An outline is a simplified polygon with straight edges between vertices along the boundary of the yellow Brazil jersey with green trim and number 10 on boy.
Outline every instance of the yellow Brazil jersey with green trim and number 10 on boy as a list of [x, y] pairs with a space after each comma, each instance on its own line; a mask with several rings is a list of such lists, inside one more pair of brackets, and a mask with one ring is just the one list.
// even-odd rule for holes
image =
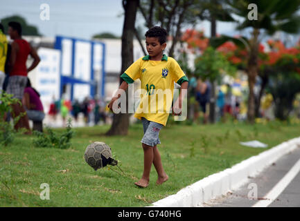
[[188, 81], [177, 61], [166, 55], [161, 61], [152, 61], [149, 55], [141, 57], [121, 77], [128, 84], [141, 80], [141, 101], [134, 117], [145, 117], [164, 126], [173, 102], [174, 82], [181, 85]]

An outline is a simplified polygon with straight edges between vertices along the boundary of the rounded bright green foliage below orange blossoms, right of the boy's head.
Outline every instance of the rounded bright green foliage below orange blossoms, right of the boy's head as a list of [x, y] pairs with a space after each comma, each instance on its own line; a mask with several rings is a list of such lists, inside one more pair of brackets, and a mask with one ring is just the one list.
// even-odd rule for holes
[[204, 80], [220, 81], [222, 73], [234, 75], [236, 68], [220, 52], [208, 47], [203, 55], [195, 59], [195, 73]]

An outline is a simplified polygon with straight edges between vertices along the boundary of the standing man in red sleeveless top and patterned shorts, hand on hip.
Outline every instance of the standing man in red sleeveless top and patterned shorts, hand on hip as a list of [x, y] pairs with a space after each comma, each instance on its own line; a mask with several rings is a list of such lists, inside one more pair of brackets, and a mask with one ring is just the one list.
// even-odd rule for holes
[[[28, 42], [21, 38], [21, 24], [15, 21], [8, 23], [8, 35], [13, 40], [11, 44], [10, 54], [10, 77], [8, 79], [8, 87], [6, 93], [12, 94], [13, 97], [20, 100], [24, 95], [24, 88], [27, 83], [27, 75], [39, 64], [39, 56], [34, 48]], [[33, 57], [33, 63], [26, 68], [28, 55]], [[14, 104], [12, 106], [12, 117], [18, 117], [21, 113], [25, 113], [15, 124], [15, 129], [26, 128], [30, 134], [28, 117], [22, 104]]]

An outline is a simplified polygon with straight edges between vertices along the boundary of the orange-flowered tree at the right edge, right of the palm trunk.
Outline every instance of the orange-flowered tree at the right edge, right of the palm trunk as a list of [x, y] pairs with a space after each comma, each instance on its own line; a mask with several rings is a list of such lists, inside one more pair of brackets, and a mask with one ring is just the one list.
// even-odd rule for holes
[[300, 48], [299, 45], [285, 48], [281, 41], [267, 41], [271, 51], [263, 67], [269, 67], [270, 80], [267, 90], [274, 98], [274, 114], [279, 119], [288, 119], [293, 109], [293, 101], [300, 93]]

